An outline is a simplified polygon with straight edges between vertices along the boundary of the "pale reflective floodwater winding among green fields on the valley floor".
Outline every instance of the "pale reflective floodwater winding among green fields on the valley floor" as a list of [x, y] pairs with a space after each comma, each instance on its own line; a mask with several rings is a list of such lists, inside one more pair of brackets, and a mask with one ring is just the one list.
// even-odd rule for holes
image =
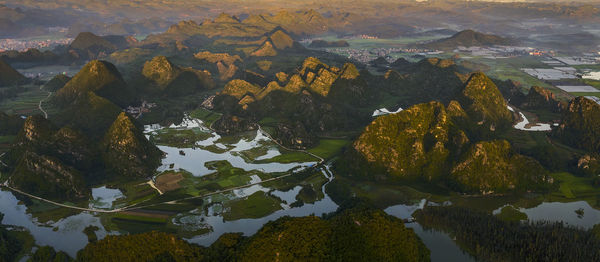
[[[157, 131], [160, 127], [157, 125], [146, 126], [146, 134]], [[192, 172], [195, 176], [203, 176], [214, 172], [204, 166], [208, 161], [227, 160], [233, 166], [244, 170], [261, 170], [263, 172], [284, 172], [292, 168], [314, 165], [316, 162], [308, 163], [251, 163], [241, 157], [239, 152], [253, 149], [259, 146], [269, 146], [266, 154], [257, 159], [269, 159], [280, 154], [276, 145], [270, 143], [270, 139], [257, 132], [255, 135], [242, 137], [240, 139], [222, 140], [216, 133], [207, 129], [200, 120], [187, 118], [184, 123], [178, 126], [168, 128], [199, 128], [203, 132], [208, 132], [212, 136], [208, 139], [198, 141], [195, 148], [176, 148], [168, 146], [159, 146], [159, 148], [167, 153], [167, 157], [163, 160], [163, 164], [158, 171], [168, 169], [183, 168]], [[224, 142], [234, 141], [234, 142]], [[221, 148], [218, 152], [213, 152], [206, 149], [206, 146], [216, 146]], [[184, 155], [179, 151], [183, 150]], [[171, 166], [173, 164], [173, 166]], [[323, 197], [314, 203], [305, 203], [299, 207], [290, 207], [290, 204], [296, 201], [296, 196], [301, 190], [301, 186], [295, 186], [287, 191], [272, 190], [260, 184], [252, 185], [247, 188], [236, 189], [228, 193], [233, 198], [242, 198], [249, 196], [255, 192], [262, 191], [266, 194], [274, 196], [281, 200], [281, 209], [261, 218], [238, 219], [234, 221], [226, 221], [220, 214], [218, 205], [211, 206], [207, 210], [201, 208], [191, 212], [181, 213], [172, 219], [176, 226], [185, 227], [188, 229], [209, 229], [208, 233], [196, 235], [187, 238], [189, 242], [201, 245], [210, 245], [217, 240], [222, 234], [228, 232], [242, 232], [244, 235], [252, 235], [256, 233], [265, 223], [276, 220], [282, 216], [307, 216], [315, 214], [317, 216], [334, 212], [338, 205], [325, 192], [325, 186], [334, 179], [334, 174], [329, 170], [329, 166], [325, 165], [321, 168], [323, 176], [327, 179], [321, 186]], [[250, 176], [249, 184], [260, 182], [260, 177]], [[98, 187], [92, 190], [92, 198], [90, 207], [106, 208], [112, 207], [112, 203], [124, 197], [122, 192], [117, 189], [107, 187]], [[208, 203], [215, 200], [217, 196], [205, 198]], [[425, 200], [414, 205], [394, 205], [385, 209], [385, 212], [401, 219], [410, 218], [411, 214], [423, 208]], [[221, 206], [222, 208], [222, 206]], [[580, 216], [575, 213], [575, 210], [583, 209], [584, 215]], [[500, 209], [495, 211], [499, 212]], [[594, 224], [600, 222], [600, 211], [593, 209], [587, 202], [579, 201], [572, 203], [542, 203], [534, 208], [520, 209], [521, 212], [527, 214], [529, 219], [536, 220], [551, 220], [565, 221], [569, 225], [590, 228]], [[222, 211], [222, 210], [221, 210]], [[83, 230], [90, 225], [96, 226], [99, 230], [96, 232], [98, 239], [104, 238], [108, 234], [118, 234], [119, 232], [107, 232], [102, 224], [102, 214], [90, 212], [80, 212], [75, 215], [70, 215], [57, 221], [48, 223], [40, 223], [36, 218], [27, 212], [27, 207], [20, 203], [12, 192], [0, 191], [0, 212], [3, 213], [4, 219], [1, 221], [4, 225], [13, 225], [27, 229], [33, 237], [37, 245], [49, 245], [57, 250], [65, 251], [71, 256], [76, 256], [78, 250], [87, 245], [87, 236]], [[412, 228], [417, 235], [423, 240], [425, 245], [431, 250], [432, 261], [474, 261], [474, 259], [465, 254], [456, 243], [444, 232], [435, 230], [426, 230], [418, 223], [407, 223], [407, 227]], [[60, 241], [57, 241], [60, 240]]]

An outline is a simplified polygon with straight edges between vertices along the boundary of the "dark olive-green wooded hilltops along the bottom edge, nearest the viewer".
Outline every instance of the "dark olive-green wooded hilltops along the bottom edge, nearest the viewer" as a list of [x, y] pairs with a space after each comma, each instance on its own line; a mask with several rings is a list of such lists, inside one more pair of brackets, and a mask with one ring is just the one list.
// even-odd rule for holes
[[89, 244], [78, 261], [335, 260], [429, 261], [415, 233], [381, 210], [356, 208], [330, 218], [283, 217], [256, 235], [224, 234], [208, 248], [166, 233], [107, 236]]

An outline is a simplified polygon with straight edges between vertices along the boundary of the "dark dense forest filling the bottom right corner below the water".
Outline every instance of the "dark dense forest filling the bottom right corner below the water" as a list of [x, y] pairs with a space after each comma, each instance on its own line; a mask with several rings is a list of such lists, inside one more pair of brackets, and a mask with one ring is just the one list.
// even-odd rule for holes
[[482, 261], [599, 261], [600, 237], [564, 223], [521, 223], [457, 207], [428, 206], [415, 213], [425, 228], [450, 232]]

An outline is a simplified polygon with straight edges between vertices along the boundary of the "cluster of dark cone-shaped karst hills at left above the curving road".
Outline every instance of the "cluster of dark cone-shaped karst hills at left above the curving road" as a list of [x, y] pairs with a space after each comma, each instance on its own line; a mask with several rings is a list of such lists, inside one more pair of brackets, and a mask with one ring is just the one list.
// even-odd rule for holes
[[152, 175], [160, 151], [134, 120], [96, 94], [110, 98], [111, 92], [123, 91], [122, 85], [113, 65], [101, 61], [86, 65], [57, 92], [53, 100], [60, 111], [57, 117], [33, 116], [25, 121], [17, 144], [4, 159], [11, 184], [39, 196], [70, 200], [87, 198], [90, 184], [109, 178]]

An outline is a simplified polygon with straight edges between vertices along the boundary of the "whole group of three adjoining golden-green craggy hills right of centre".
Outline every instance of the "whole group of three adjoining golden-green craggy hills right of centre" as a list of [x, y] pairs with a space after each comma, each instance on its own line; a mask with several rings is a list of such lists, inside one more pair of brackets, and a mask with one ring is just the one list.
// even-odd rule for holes
[[378, 117], [336, 168], [358, 178], [443, 182], [459, 192], [547, 189], [551, 180], [536, 160], [517, 154], [507, 141], [481, 141], [512, 123], [496, 85], [475, 73], [456, 96], [460, 103], [447, 107], [430, 102]]

